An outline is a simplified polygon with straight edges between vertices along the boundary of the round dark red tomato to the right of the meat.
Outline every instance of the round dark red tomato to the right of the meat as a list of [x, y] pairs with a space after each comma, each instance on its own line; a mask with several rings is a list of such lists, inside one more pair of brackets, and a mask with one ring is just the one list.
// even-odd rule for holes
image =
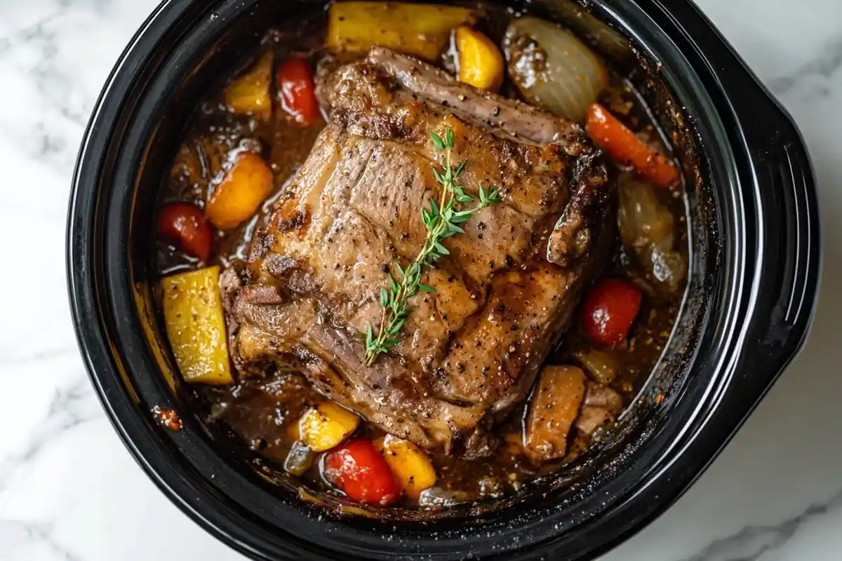
[[606, 278], [591, 288], [582, 306], [582, 327], [595, 342], [619, 345], [626, 341], [637, 312], [641, 294], [634, 284]]

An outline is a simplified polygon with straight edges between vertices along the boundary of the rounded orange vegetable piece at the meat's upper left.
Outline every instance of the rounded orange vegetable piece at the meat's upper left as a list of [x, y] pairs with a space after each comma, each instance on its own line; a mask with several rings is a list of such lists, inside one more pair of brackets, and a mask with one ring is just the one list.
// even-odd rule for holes
[[252, 152], [240, 152], [210, 194], [205, 215], [219, 230], [236, 228], [251, 218], [273, 186], [272, 170], [264, 159]]

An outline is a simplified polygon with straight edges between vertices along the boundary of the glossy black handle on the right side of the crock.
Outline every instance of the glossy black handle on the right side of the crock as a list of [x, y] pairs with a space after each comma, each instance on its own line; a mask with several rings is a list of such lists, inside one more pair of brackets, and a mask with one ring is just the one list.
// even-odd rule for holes
[[765, 99], [768, 103], [739, 108], [764, 214], [755, 332], [747, 342], [754, 347], [752, 360], [780, 373], [812, 324], [821, 230], [813, 167], [801, 134], [768, 93]]

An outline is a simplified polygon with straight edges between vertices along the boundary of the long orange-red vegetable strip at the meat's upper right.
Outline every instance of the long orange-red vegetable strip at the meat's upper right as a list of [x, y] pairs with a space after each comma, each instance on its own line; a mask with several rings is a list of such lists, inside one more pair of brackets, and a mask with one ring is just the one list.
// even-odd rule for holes
[[585, 130], [615, 161], [634, 167], [639, 175], [659, 187], [678, 183], [679, 170], [674, 163], [647, 146], [599, 103], [588, 108]]

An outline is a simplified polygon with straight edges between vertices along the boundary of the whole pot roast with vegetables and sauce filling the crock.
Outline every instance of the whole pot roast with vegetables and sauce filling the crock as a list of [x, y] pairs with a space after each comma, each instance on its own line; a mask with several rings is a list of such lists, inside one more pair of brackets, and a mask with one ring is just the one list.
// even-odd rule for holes
[[157, 214], [157, 298], [207, 419], [370, 505], [563, 469], [685, 290], [679, 168], [629, 82], [485, 6], [334, 3], [263, 45], [201, 103]]

